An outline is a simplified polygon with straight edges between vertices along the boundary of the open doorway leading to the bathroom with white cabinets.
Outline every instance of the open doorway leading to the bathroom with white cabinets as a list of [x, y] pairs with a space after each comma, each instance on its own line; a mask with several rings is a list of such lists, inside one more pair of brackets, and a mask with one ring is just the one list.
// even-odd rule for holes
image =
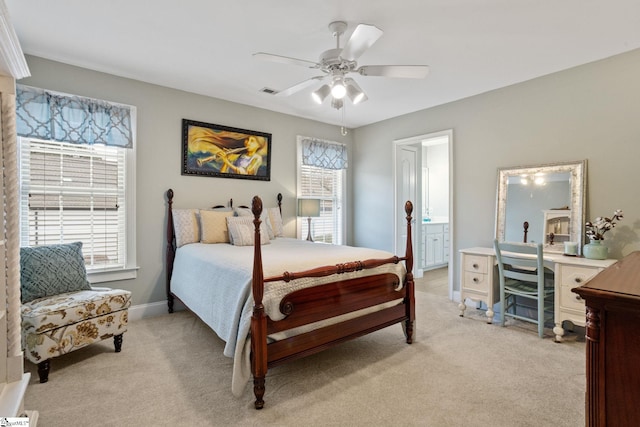
[[[448, 269], [453, 258], [453, 131], [447, 130], [394, 141], [394, 189], [396, 206], [414, 201], [414, 275]], [[404, 212], [396, 212], [396, 253], [404, 248]], [[453, 271], [449, 298], [453, 297]]]

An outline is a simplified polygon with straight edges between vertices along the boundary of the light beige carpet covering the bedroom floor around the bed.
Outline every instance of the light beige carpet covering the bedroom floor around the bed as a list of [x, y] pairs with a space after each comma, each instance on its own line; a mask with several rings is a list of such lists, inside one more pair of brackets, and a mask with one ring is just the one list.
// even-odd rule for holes
[[187, 312], [132, 322], [121, 353], [109, 340], [53, 359], [46, 384], [26, 362], [25, 408], [38, 427], [584, 425], [584, 342], [460, 318], [446, 284], [417, 288], [414, 344], [394, 325], [276, 367], [261, 411], [249, 385], [233, 397], [222, 341]]

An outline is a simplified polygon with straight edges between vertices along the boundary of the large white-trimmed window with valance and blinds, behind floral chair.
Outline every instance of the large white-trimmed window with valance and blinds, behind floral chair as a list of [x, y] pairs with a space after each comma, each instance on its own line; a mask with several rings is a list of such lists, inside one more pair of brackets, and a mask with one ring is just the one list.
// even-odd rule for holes
[[[40, 246], [81, 241], [90, 282], [135, 278], [133, 144], [127, 148], [124, 145], [128, 144], [126, 141], [124, 144], [113, 145], [96, 138], [86, 138], [89, 142], [82, 143], [83, 136], [95, 136], [98, 132], [97, 128], [89, 128], [74, 135], [72, 132], [78, 126], [69, 127], [71, 130], [63, 129], [72, 142], [24, 136], [29, 134], [24, 131], [27, 126], [33, 129], [44, 127], [30, 114], [33, 110], [29, 109], [33, 105], [28, 101], [33, 98], [27, 101], [23, 99], [21, 109], [20, 95], [19, 93], [17, 96], [16, 108], [17, 114], [24, 113], [23, 132], [20, 131], [20, 120], [17, 121], [18, 134], [22, 135], [18, 138], [20, 245]], [[81, 102], [86, 100], [71, 95], [68, 97]], [[49, 100], [47, 102], [52, 103]], [[96, 102], [111, 106], [105, 101]], [[127, 108], [130, 108], [133, 124], [135, 108]], [[92, 104], [90, 113], [95, 117], [101, 112], [96, 113]], [[78, 114], [77, 111], [74, 114]], [[57, 117], [57, 120], [60, 118]], [[114, 119], [109, 116], [106, 119], [100, 117], [99, 120], [104, 127], [105, 120]], [[122, 121], [122, 117], [119, 116], [117, 120]], [[84, 125], [86, 120], [82, 122]], [[112, 125], [103, 134], [113, 133], [114, 127]], [[116, 129], [119, 142], [123, 142], [121, 131], [122, 129]], [[109, 138], [113, 141], [113, 137]]]

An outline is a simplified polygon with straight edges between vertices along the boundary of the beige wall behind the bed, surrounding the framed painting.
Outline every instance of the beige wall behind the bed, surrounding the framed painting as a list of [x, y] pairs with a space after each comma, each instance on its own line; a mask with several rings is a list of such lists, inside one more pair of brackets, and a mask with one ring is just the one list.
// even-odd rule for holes
[[[37, 57], [27, 57], [30, 78], [18, 83], [135, 105], [137, 128], [137, 244], [138, 277], [109, 283], [133, 292], [134, 304], [166, 300], [164, 272], [164, 194], [175, 191], [174, 207], [249, 204], [260, 195], [265, 206], [284, 196], [286, 234], [295, 235], [296, 135], [345, 142], [351, 134], [311, 120], [274, 113], [246, 105], [194, 95], [109, 74], [72, 67]], [[182, 176], [182, 119], [198, 120], [272, 134], [271, 181]], [[288, 220], [287, 220], [288, 219]]]

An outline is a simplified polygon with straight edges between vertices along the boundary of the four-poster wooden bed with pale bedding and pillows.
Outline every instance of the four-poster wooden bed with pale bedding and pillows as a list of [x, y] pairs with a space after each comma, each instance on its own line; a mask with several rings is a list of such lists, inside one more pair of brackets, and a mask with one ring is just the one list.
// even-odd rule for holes
[[265, 210], [258, 196], [250, 209], [174, 209], [173, 198], [168, 190], [169, 312], [179, 299], [225, 341], [232, 391], [242, 394], [253, 376], [256, 409], [264, 406], [268, 368], [396, 323], [412, 342], [411, 202], [406, 253], [398, 257], [284, 237], [280, 194], [278, 207]]

